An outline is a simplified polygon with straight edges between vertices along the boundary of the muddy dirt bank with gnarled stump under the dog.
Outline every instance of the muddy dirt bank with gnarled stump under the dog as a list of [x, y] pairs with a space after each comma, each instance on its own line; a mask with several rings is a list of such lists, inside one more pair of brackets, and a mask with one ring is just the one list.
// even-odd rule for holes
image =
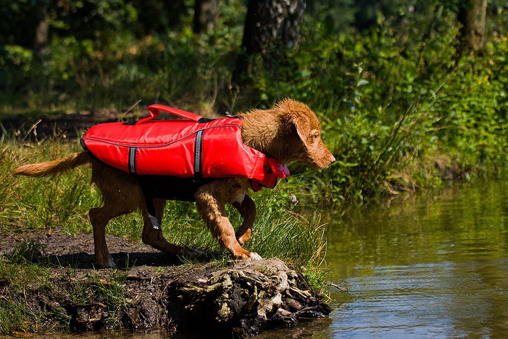
[[[99, 330], [112, 327], [163, 328], [249, 337], [272, 327], [330, 313], [303, 276], [277, 258], [181, 264], [148, 246], [108, 236], [117, 269], [93, 268], [91, 234], [62, 231], [10, 235], [0, 255], [36, 238], [45, 282], [22, 289], [0, 277], [0, 300], [26, 304], [41, 330]], [[2, 273], [0, 273], [2, 275]]]

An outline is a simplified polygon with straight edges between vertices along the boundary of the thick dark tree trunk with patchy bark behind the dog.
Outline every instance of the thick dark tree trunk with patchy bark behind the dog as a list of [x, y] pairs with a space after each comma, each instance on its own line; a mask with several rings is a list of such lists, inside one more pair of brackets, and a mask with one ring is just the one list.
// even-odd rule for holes
[[238, 80], [247, 72], [254, 56], [261, 56], [269, 68], [279, 64], [289, 48], [298, 47], [304, 11], [305, 0], [249, 0], [233, 78]]

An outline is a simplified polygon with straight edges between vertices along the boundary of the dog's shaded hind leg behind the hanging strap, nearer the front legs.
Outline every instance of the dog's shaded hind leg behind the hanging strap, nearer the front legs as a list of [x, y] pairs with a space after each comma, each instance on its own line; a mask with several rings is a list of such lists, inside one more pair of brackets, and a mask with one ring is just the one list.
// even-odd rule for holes
[[172, 243], [169, 243], [164, 234], [162, 233], [162, 217], [164, 213], [164, 208], [166, 207], [166, 200], [164, 199], [154, 199], [153, 206], [155, 207], [155, 217], [158, 222], [158, 229], [153, 228], [152, 222], [148, 217], [148, 210], [146, 204], [142, 204], [140, 206], [141, 213], [143, 215], [143, 234], [142, 240], [147, 245], [152, 246], [154, 249], [157, 249], [162, 252], [174, 254], [177, 256], [182, 256], [186, 258], [196, 258], [198, 256], [205, 255], [205, 252], [193, 250], [186, 248], [185, 246], [178, 246]]

